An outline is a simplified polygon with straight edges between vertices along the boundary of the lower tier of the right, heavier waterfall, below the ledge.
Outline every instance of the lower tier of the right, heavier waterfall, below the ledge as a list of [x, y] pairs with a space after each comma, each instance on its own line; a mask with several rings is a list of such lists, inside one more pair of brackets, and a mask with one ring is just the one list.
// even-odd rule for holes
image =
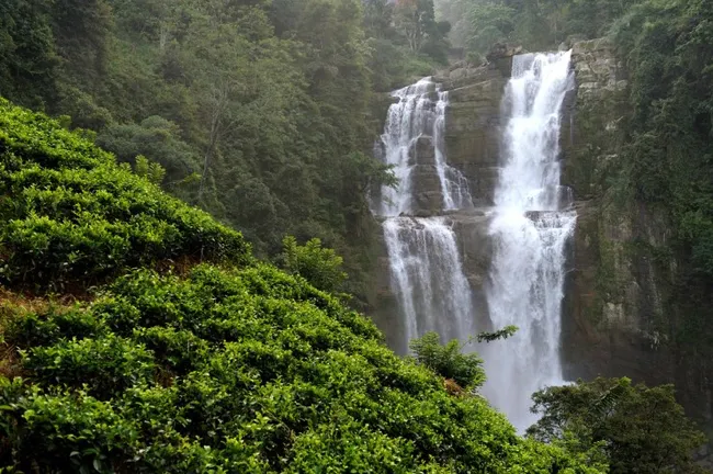
[[490, 318], [496, 328], [516, 325], [519, 330], [479, 349], [488, 374], [484, 394], [521, 431], [536, 421], [530, 413], [532, 393], [563, 384], [561, 308], [566, 247], [576, 222], [575, 212], [505, 212], [490, 227]]

